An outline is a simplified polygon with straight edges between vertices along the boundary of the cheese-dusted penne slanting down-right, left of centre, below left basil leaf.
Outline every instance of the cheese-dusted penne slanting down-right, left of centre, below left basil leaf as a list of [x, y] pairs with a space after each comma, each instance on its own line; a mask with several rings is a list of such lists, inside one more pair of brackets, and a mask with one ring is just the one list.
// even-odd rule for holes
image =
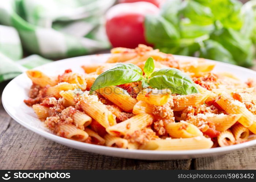
[[116, 117], [98, 100], [96, 95], [83, 94], [80, 99], [83, 111], [107, 128], [116, 124]]

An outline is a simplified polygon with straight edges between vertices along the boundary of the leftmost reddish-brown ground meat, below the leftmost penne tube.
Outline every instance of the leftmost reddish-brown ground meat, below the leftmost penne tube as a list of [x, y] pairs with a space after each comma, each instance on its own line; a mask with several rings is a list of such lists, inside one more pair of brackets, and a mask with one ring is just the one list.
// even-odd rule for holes
[[25, 99], [24, 100], [25, 104], [27, 104], [28, 106], [33, 106], [34, 104], [41, 103], [45, 98], [47, 98], [46, 96], [47, 88], [48, 86], [42, 88], [42, 87], [39, 87], [38, 85], [33, 84], [29, 91], [29, 96], [31, 96], [31, 98], [27, 100]]

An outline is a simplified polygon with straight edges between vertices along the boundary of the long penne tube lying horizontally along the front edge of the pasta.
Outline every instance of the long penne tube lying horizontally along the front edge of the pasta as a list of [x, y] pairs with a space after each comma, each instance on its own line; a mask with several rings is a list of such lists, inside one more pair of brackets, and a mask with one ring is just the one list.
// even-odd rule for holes
[[147, 142], [139, 149], [142, 150], [196, 150], [210, 149], [213, 142], [210, 138], [203, 136], [193, 138], [177, 138], [177, 139], [156, 139]]

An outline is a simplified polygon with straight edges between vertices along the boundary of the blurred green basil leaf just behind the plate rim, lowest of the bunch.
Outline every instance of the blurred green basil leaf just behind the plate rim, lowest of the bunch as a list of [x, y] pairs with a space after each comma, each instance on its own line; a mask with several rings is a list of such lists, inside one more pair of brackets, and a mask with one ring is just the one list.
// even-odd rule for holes
[[236, 62], [233, 60], [233, 56], [231, 55], [231, 53], [217, 41], [206, 40], [203, 43], [204, 47], [200, 48], [200, 58], [236, 64]]

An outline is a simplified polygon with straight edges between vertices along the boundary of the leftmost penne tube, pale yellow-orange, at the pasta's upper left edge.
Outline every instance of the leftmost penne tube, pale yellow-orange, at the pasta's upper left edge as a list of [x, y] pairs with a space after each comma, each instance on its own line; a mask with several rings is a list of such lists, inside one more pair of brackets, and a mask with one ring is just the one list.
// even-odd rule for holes
[[43, 74], [41, 71], [28, 70], [26, 71], [26, 74], [32, 80], [33, 83], [38, 84], [40, 87], [45, 87], [47, 85], [54, 86], [57, 84], [55, 80]]

